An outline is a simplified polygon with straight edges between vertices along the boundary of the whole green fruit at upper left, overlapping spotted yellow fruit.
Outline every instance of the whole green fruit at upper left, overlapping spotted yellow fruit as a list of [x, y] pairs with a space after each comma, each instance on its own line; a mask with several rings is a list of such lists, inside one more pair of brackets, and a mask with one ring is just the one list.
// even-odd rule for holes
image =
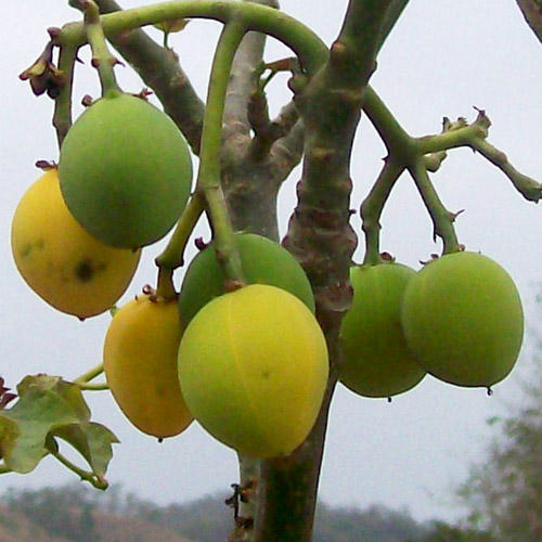
[[188, 145], [173, 121], [125, 93], [98, 100], [77, 119], [59, 168], [74, 217], [102, 242], [125, 248], [170, 230], [192, 179]]

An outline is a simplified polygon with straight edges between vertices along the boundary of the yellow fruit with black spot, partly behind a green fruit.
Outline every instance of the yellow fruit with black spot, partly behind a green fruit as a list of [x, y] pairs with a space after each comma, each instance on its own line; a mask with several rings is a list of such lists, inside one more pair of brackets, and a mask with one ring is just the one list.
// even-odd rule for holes
[[141, 250], [113, 248], [87, 233], [69, 214], [56, 169], [25, 193], [13, 217], [11, 247], [30, 288], [79, 318], [109, 309], [128, 287]]

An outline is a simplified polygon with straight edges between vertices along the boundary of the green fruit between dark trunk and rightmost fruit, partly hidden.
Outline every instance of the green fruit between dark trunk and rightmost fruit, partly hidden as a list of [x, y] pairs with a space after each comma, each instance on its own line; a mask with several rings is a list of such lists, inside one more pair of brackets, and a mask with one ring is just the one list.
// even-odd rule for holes
[[400, 263], [350, 269], [352, 305], [340, 325], [340, 382], [366, 397], [391, 397], [426, 374], [406, 347], [401, 302], [416, 272]]

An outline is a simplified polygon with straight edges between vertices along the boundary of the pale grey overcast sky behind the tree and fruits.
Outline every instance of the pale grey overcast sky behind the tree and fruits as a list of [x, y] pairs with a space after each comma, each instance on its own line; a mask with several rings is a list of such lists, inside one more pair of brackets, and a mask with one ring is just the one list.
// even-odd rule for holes
[[[126, 8], [150, 4], [124, 0]], [[340, 28], [347, 1], [283, 0], [285, 12], [331, 43]], [[35, 98], [17, 75], [41, 52], [46, 29], [79, 18], [66, 1], [2, 2], [0, 37], [2, 107], [2, 198], [0, 199], [0, 374], [14, 386], [26, 374], [46, 372], [75, 378], [101, 361], [108, 315], [83, 323], [47, 306], [17, 274], [10, 250], [10, 223], [24, 191], [39, 177], [38, 159], [57, 159], [51, 126], [52, 102]], [[185, 70], [205, 95], [212, 44], [219, 26], [192, 22], [171, 38]], [[160, 39], [158, 33], [153, 33]], [[194, 47], [196, 46], [196, 47]], [[372, 85], [413, 136], [440, 131], [443, 116], [473, 120], [485, 108], [493, 126], [489, 141], [506, 152], [517, 169], [542, 179], [542, 50], [511, 0], [411, 0], [379, 56]], [[284, 56], [271, 42], [267, 60]], [[81, 54], [88, 61], [88, 52]], [[138, 92], [142, 82], [130, 68], [117, 68], [121, 87]], [[285, 78], [270, 87], [272, 112], [289, 100]], [[95, 73], [77, 68], [75, 111], [86, 93], [99, 95]], [[352, 207], [359, 208], [385, 155], [366, 120], [356, 139], [351, 176]], [[295, 205], [296, 170], [280, 195], [281, 232]], [[465, 209], [456, 221], [460, 242], [499, 261], [514, 278], [527, 314], [537, 323], [534, 297], [541, 291], [540, 207], [526, 202], [496, 168], [468, 150], [450, 153], [434, 176], [450, 210]], [[361, 235], [359, 218], [352, 224]], [[206, 228], [197, 230], [206, 235]], [[155, 280], [154, 257], [160, 244], [144, 250], [140, 269], [122, 298], [130, 299]], [[409, 178], [401, 179], [383, 216], [382, 248], [398, 261], [420, 268], [440, 249], [431, 224]], [[363, 243], [356, 254], [363, 258]], [[180, 273], [178, 281], [182, 278]], [[528, 374], [529, 339], [511, 377], [494, 387], [463, 389], [426, 377], [412, 391], [385, 400], [363, 399], [339, 387], [335, 395], [324, 453], [321, 498], [332, 505], [380, 503], [409, 509], [417, 519], [453, 519], [460, 513], [451, 493], [481, 461], [491, 431], [486, 420], [521, 400], [518, 382]], [[87, 393], [94, 420], [112, 428], [115, 447], [108, 480], [139, 496], [166, 504], [206, 493], [228, 494], [237, 480], [235, 454], [208, 437], [197, 424], [162, 444], [119, 413], [107, 392]], [[0, 477], [8, 487], [38, 488], [73, 481], [53, 460], [26, 476]]]

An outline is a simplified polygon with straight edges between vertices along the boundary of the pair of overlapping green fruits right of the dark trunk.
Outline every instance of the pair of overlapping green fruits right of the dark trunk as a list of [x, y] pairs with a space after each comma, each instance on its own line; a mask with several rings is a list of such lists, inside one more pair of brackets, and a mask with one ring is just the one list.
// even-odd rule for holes
[[425, 373], [488, 389], [513, 369], [524, 336], [521, 301], [504, 269], [457, 251], [417, 273], [396, 262], [354, 267], [353, 302], [340, 330], [340, 380], [366, 397], [391, 397]]

